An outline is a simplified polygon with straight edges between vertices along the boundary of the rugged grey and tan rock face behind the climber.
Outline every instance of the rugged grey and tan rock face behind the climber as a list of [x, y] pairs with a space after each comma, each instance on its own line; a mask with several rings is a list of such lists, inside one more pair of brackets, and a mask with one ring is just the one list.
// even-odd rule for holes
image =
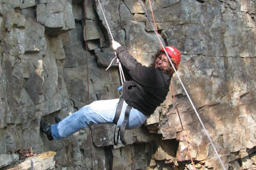
[[[159, 42], [139, 2], [101, 5], [114, 40], [149, 66]], [[143, 5], [152, 21], [149, 1]], [[256, 169], [255, 1], [151, 5], [160, 40], [181, 52], [177, 74], [225, 168]], [[41, 118], [54, 124], [57, 115], [119, 97], [117, 65], [105, 71], [111, 40], [96, 0], [0, 0], [0, 167], [15, 167], [13, 153], [32, 148], [55, 151], [56, 169], [193, 169], [191, 159], [198, 169], [222, 169], [177, 75], [173, 94], [141, 128], [126, 131], [128, 146], [113, 147], [111, 124], [60, 141], [40, 133]], [[53, 167], [52, 157], [45, 161]]]

